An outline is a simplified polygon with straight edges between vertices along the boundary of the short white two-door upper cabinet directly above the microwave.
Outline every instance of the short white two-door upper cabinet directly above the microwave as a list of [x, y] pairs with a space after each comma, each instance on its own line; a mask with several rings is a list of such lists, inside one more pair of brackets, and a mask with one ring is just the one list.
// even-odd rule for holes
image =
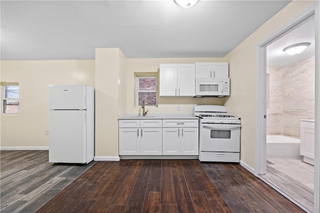
[[229, 63], [227, 62], [196, 62], [196, 78], [228, 78]]

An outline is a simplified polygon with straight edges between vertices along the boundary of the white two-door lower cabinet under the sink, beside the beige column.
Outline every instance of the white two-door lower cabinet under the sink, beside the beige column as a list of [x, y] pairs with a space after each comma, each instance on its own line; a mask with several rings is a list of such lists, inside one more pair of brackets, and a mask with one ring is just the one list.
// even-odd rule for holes
[[162, 155], [161, 127], [161, 120], [119, 120], [119, 155]]

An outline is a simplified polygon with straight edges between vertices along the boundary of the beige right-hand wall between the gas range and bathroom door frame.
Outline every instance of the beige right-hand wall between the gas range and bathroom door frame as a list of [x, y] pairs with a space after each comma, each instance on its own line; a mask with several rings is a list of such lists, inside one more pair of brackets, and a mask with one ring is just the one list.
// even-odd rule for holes
[[[229, 114], [241, 118], [240, 159], [255, 168], [255, 66], [256, 45], [303, 12], [316, 1], [293, 0], [242, 43], [229, 52], [230, 97], [225, 106]], [[243, 144], [244, 139], [244, 144]]]

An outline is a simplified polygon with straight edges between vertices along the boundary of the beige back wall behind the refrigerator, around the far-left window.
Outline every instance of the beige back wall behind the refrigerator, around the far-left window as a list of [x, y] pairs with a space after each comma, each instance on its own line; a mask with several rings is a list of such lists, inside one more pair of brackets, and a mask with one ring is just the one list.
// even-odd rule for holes
[[94, 60], [1, 61], [1, 82], [19, 83], [19, 114], [1, 114], [1, 147], [48, 147], [48, 85], [94, 86]]

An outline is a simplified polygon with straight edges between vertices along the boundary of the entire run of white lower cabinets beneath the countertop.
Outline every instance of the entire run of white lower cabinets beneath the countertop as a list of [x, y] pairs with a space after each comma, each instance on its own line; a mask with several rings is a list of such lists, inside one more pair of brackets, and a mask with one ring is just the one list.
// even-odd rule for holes
[[198, 120], [119, 120], [119, 155], [198, 155]]

